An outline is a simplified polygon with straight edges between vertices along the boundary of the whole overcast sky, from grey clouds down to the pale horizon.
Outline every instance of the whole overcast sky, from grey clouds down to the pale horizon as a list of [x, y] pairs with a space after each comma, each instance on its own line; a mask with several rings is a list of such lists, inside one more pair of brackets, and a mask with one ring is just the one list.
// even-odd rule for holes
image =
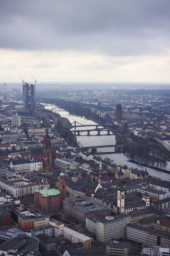
[[0, 82], [170, 81], [170, 0], [0, 0]]

